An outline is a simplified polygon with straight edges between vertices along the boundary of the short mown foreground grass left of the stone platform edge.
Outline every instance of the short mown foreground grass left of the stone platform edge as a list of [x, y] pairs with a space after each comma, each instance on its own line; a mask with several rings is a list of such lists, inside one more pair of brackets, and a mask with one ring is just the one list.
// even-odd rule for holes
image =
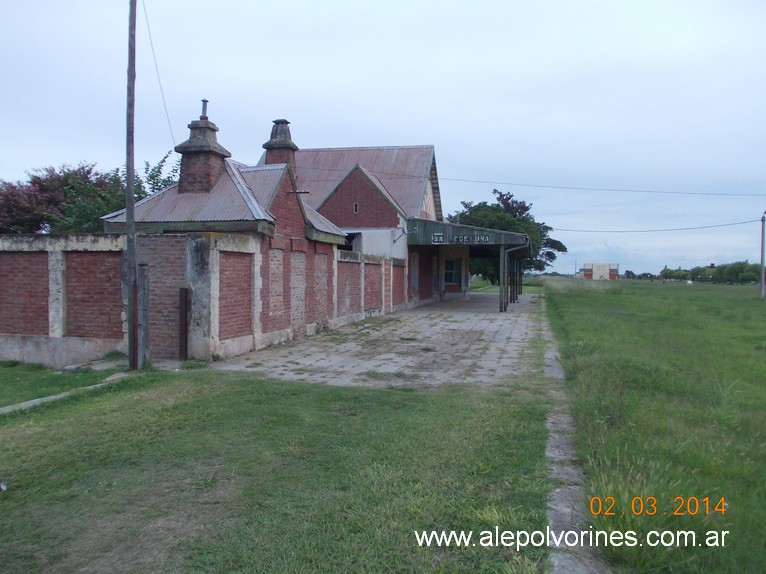
[[549, 403], [544, 381], [525, 385], [198, 369], [6, 416], [0, 570], [542, 572], [545, 548], [421, 548], [413, 533], [545, 529]]

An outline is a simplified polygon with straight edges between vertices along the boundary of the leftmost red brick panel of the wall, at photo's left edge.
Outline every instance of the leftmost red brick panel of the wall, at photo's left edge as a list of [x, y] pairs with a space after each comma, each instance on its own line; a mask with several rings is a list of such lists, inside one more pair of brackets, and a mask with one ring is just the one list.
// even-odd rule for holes
[[48, 334], [48, 253], [0, 252], [0, 333]]

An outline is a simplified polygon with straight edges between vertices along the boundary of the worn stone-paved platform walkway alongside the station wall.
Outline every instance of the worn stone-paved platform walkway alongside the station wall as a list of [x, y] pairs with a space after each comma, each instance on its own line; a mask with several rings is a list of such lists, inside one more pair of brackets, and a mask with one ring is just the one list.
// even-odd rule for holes
[[506, 313], [498, 312], [497, 297], [472, 293], [469, 300], [377, 317], [211, 367], [330, 385], [492, 385], [532, 372], [529, 341], [541, 319], [537, 296], [522, 295]]

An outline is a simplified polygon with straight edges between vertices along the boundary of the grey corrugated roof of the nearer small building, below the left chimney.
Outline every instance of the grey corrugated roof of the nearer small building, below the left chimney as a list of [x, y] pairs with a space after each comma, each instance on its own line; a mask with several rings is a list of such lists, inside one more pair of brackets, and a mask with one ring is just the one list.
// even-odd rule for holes
[[[258, 197], [269, 197], [285, 173], [284, 165], [248, 168], [226, 160], [226, 173], [210, 193], [178, 193], [178, 185], [155, 193], [136, 203], [136, 223], [257, 221], [273, 222]], [[102, 217], [110, 223], [124, 223], [125, 210]]]

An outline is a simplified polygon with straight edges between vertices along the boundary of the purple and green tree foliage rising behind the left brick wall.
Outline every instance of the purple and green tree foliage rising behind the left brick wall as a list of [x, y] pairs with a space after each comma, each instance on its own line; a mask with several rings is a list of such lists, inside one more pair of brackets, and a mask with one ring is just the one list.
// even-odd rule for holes
[[[165, 175], [170, 152], [136, 178], [136, 199], [175, 182], [180, 162]], [[26, 182], [0, 180], [0, 233], [97, 233], [102, 215], [125, 207], [124, 171], [100, 172], [94, 164], [47, 167]]]

